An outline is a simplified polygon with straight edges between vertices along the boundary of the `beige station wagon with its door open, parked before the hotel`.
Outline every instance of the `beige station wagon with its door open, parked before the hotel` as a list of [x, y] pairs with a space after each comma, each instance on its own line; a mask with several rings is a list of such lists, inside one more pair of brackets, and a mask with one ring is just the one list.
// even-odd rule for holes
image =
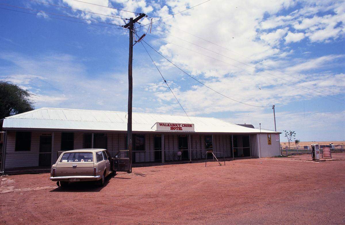
[[111, 173], [125, 171], [130, 173], [129, 150], [119, 150], [114, 158], [106, 149], [75, 149], [63, 151], [51, 166], [50, 180], [66, 187], [69, 182], [95, 181], [104, 185]]

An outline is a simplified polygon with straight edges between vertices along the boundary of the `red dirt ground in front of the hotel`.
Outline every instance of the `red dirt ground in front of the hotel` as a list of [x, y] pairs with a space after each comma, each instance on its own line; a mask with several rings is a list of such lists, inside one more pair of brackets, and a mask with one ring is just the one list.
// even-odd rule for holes
[[7, 180], [0, 185], [0, 223], [345, 223], [345, 160], [244, 159], [207, 165], [133, 168], [131, 174], [108, 179], [103, 188], [75, 183], [64, 190], [49, 174], [1, 177]]

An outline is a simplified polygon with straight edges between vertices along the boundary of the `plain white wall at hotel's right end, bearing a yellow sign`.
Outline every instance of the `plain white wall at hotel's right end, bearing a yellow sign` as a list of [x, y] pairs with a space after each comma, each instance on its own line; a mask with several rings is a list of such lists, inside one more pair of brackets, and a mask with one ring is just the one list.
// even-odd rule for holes
[[267, 141], [267, 134], [258, 134], [259, 157], [273, 157], [280, 155], [280, 141], [276, 141], [275, 134], [271, 134], [272, 144]]

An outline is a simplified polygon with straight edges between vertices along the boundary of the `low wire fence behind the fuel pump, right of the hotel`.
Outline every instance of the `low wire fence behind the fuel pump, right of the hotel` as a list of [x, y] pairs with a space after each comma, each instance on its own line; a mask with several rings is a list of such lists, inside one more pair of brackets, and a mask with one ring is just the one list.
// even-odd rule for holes
[[[319, 145], [319, 147], [320, 154], [322, 154], [324, 147], [329, 147], [332, 153], [345, 151], [345, 145]], [[290, 148], [288, 146], [280, 146], [280, 154], [283, 156], [312, 154], [312, 146], [291, 145]]]

